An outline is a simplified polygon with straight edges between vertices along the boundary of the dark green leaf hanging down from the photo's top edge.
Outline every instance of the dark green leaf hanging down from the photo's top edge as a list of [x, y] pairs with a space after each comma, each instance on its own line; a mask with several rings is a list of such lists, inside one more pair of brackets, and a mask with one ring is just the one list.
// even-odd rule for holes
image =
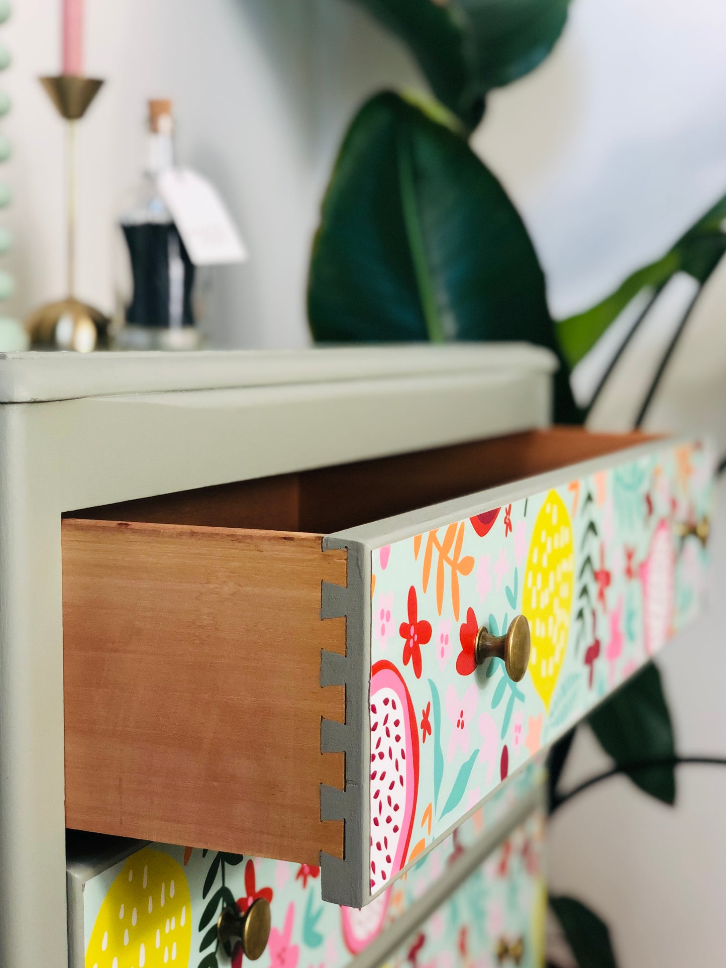
[[556, 44], [569, 0], [353, 0], [396, 34], [439, 101], [473, 128], [487, 93], [529, 74]]

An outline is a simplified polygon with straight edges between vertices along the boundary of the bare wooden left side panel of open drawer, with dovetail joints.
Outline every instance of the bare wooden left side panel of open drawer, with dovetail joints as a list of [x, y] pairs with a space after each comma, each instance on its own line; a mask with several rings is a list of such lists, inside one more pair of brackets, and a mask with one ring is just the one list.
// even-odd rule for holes
[[63, 522], [66, 824], [318, 864], [343, 854], [319, 784], [345, 689], [320, 687], [322, 581], [346, 554], [318, 535]]

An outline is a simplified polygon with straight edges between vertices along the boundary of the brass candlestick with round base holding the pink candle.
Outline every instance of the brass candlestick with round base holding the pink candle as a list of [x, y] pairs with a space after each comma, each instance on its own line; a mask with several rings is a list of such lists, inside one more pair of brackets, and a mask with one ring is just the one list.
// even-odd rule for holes
[[66, 121], [66, 285], [68, 295], [36, 310], [25, 322], [31, 343], [38, 348], [89, 352], [105, 346], [110, 320], [105, 313], [76, 299], [76, 121], [83, 117], [101, 89], [95, 77], [41, 77], [45, 91]]

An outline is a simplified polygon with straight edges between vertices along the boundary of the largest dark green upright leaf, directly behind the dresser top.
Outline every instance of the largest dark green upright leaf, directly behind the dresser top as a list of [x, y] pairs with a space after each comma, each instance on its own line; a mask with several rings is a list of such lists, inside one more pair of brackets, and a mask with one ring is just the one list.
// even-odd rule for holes
[[[542, 269], [497, 178], [455, 125], [393, 93], [352, 122], [322, 206], [316, 340], [526, 340], [557, 351]], [[564, 371], [558, 417], [574, 422]]]

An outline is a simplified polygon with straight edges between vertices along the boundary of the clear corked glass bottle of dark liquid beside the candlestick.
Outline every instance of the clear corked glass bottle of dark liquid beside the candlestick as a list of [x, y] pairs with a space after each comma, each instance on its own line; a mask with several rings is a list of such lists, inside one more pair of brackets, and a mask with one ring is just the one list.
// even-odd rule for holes
[[194, 349], [201, 344], [195, 312], [196, 270], [158, 189], [174, 164], [171, 102], [149, 102], [146, 165], [120, 219], [130, 270], [115, 344], [123, 349]]

